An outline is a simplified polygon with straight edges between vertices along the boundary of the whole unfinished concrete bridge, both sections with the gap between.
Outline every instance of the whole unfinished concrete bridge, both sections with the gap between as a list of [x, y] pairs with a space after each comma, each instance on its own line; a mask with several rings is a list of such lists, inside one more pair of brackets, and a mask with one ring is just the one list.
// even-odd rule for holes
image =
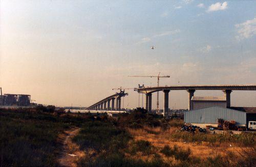
[[[167, 116], [169, 107], [169, 92], [175, 90], [185, 90], [188, 92], [188, 110], [191, 109], [191, 98], [194, 96], [196, 90], [219, 90], [224, 93], [226, 100], [226, 107], [230, 107], [230, 94], [232, 91], [256, 91], [256, 85], [188, 85], [188, 86], [165, 86], [165, 87], [146, 87], [136, 88], [134, 91], [145, 94], [145, 109], [148, 112], [152, 112], [152, 94], [155, 92], [163, 91], [163, 115]], [[94, 103], [87, 109], [94, 110], [120, 110], [121, 109], [121, 97], [124, 97], [127, 93], [120, 91], [112, 96], [104, 98], [97, 103]], [[116, 100], [116, 103], [115, 103]], [[110, 103], [112, 101], [112, 107]], [[108, 103], [108, 106], [106, 106]]]

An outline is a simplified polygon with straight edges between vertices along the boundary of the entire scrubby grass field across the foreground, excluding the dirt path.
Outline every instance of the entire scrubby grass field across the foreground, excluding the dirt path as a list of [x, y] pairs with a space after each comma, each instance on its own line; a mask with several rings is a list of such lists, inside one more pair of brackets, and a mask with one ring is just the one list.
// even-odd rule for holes
[[[80, 127], [68, 144], [77, 166], [253, 166], [255, 133], [180, 131], [182, 120], [137, 110], [112, 119], [90, 114], [0, 111], [0, 166], [57, 166], [58, 136]], [[168, 128], [166, 128], [168, 127]]]

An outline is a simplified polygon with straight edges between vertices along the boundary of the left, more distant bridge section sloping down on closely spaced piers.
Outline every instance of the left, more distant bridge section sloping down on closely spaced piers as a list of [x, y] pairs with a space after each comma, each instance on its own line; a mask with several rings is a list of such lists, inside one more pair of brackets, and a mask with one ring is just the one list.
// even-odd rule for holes
[[[116, 93], [109, 97], [100, 100], [93, 105], [87, 107], [87, 110], [121, 110], [121, 97], [128, 95], [124, 93], [124, 91], [120, 91], [120, 93]], [[116, 104], [115, 104], [116, 100]], [[111, 107], [110, 107], [111, 106]]]

